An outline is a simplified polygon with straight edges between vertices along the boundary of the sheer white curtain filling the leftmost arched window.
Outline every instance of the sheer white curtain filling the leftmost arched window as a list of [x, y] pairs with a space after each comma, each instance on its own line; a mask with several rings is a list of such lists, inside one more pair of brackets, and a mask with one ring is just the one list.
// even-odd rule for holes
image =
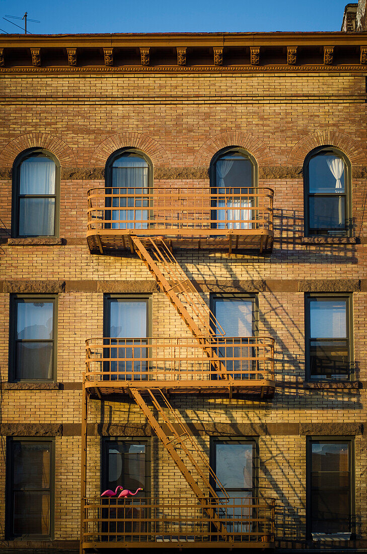
[[28, 158], [20, 166], [20, 236], [55, 233], [55, 175], [55, 162], [49, 158]]

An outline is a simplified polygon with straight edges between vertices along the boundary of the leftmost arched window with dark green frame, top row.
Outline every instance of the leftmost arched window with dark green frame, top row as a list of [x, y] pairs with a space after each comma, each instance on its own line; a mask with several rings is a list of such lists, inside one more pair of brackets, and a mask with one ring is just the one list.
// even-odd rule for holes
[[59, 161], [50, 152], [32, 148], [17, 157], [13, 176], [13, 236], [57, 236]]

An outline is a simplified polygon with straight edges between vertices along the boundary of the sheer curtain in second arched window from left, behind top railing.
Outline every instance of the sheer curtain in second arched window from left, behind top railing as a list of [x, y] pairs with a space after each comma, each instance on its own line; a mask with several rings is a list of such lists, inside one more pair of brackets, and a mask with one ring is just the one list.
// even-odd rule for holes
[[112, 165], [112, 229], [148, 228], [148, 163], [138, 156], [121, 156]]

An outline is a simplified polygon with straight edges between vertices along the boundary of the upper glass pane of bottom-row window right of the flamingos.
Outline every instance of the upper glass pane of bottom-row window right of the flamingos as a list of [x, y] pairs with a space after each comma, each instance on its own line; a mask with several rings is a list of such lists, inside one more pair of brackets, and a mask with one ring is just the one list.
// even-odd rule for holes
[[228, 489], [252, 489], [252, 444], [215, 444], [216, 475]]

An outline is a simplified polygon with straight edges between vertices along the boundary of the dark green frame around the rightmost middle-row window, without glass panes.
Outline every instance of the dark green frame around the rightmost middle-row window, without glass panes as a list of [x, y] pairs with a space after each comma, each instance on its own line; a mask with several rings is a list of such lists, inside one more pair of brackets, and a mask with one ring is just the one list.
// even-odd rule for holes
[[[347, 302], [347, 341], [348, 341], [348, 376], [335, 379], [328, 377], [317, 377], [311, 375], [311, 355], [310, 355], [310, 341], [311, 341], [311, 313], [309, 310], [309, 302], [311, 300], [345, 300]], [[316, 337], [317, 338], [317, 337]], [[334, 293], [307, 293], [304, 295], [304, 353], [305, 353], [305, 379], [309, 382], [324, 381], [330, 382], [343, 382], [354, 381], [354, 340], [353, 340], [353, 295], [352, 294], [334, 294]]]

